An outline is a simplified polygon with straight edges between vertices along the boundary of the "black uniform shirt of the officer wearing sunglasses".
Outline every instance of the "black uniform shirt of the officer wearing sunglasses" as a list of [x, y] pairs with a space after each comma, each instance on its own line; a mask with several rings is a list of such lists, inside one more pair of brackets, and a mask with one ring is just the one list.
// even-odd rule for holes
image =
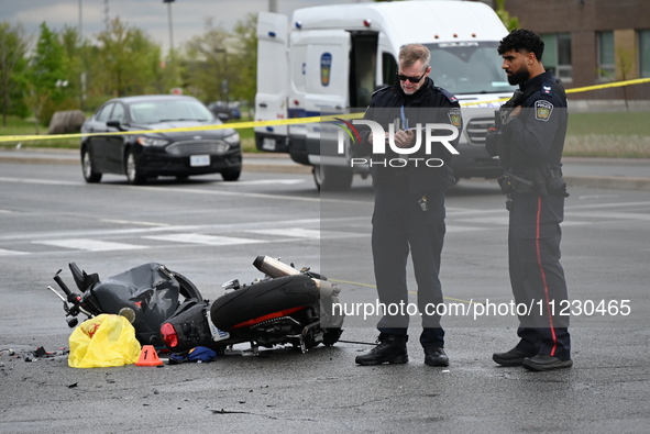
[[[454, 125], [459, 130], [459, 136], [451, 141], [453, 147], [458, 146], [462, 132], [462, 118], [458, 98], [447, 90], [436, 87], [433, 80], [429, 77], [426, 82], [414, 94], [406, 94], [401, 90], [399, 81], [393, 86], [386, 86], [373, 93], [371, 104], [368, 105], [364, 119], [372, 120], [382, 125], [384, 131], [388, 132], [388, 125], [396, 119], [401, 119], [401, 108], [404, 107], [404, 118], [408, 120], [410, 126], [418, 123], [423, 127], [427, 123], [447, 123]], [[430, 110], [427, 110], [430, 109]], [[368, 142], [370, 129], [359, 129], [363, 140], [360, 145], [353, 147], [355, 156], [371, 155], [371, 159], [390, 160], [393, 158], [421, 158], [417, 165], [411, 160], [407, 167], [408, 187], [411, 193], [425, 193], [430, 190], [445, 189], [453, 183], [453, 171], [451, 169], [452, 154], [439, 143], [431, 145], [431, 154], [425, 154], [425, 133], [421, 134], [420, 149], [410, 155], [400, 155], [394, 153], [389, 146], [386, 146], [385, 155], [373, 155], [372, 143]], [[449, 131], [441, 132], [440, 135], [448, 135]], [[441, 167], [428, 167], [423, 162], [427, 159], [440, 158], [444, 164]], [[372, 165], [371, 174], [373, 182], [390, 182], [399, 168], [389, 165]], [[401, 169], [404, 170], [404, 169]]]

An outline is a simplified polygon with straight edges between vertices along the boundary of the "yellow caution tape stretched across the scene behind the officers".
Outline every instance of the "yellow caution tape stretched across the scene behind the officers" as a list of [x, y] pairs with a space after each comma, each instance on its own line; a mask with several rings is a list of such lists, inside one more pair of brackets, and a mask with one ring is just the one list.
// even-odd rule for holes
[[[591, 90], [641, 85], [641, 84], [646, 84], [646, 82], [650, 82], [650, 78], [638, 78], [638, 79], [634, 79], [634, 80], [615, 81], [615, 82], [607, 82], [607, 84], [603, 84], [603, 85], [566, 89], [566, 93], [587, 92]], [[502, 98], [502, 99], [492, 100], [492, 101], [463, 102], [461, 105], [467, 107], [467, 105], [486, 104], [486, 103], [493, 103], [493, 102], [507, 101], [508, 99], [509, 98]], [[257, 127], [257, 126], [279, 126], [279, 125], [297, 125], [297, 124], [306, 124], [306, 123], [332, 122], [337, 118], [339, 118], [339, 119], [360, 119], [362, 116], [363, 116], [363, 113], [350, 113], [350, 114], [332, 114], [332, 115], [327, 115], [327, 116], [277, 119], [277, 120], [273, 120], [273, 121], [249, 121], [249, 122], [238, 122], [238, 123], [225, 123], [222, 125], [203, 125], [203, 126], [190, 126], [190, 127], [184, 126], [184, 127], [165, 129], [165, 130], [115, 131], [115, 132], [104, 132], [104, 133], [85, 133], [85, 134], [78, 133], [78, 134], [53, 134], [53, 135], [4, 135], [4, 136], [0, 136], [0, 143], [3, 143], [3, 142], [32, 142], [32, 141], [58, 140], [58, 138], [80, 138], [80, 137], [91, 137], [91, 136], [100, 136], [100, 135], [178, 133], [178, 132], [188, 132], [188, 131], [225, 130], [225, 129], [241, 130], [241, 129], [252, 129], [252, 127]]]

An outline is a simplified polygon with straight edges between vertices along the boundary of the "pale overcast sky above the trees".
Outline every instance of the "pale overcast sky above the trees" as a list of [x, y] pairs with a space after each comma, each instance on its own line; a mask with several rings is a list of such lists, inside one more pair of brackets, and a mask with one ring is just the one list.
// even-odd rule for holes
[[[319, 4], [356, 3], [370, 0], [275, 0], [279, 13], [290, 14], [297, 8]], [[106, 29], [106, 16], [120, 20], [145, 31], [159, 43], [163, 52], [169, 47], [167, 4], [163, 0], [1, 0], [0, 22], [21, 23], [27, 35], [37, 38], [38, 25], [46, 22], [59, 31], [65, 24], [78, 26], [84, 35], [93, 37]], [[179, 48], [194, 35], [206, 30], [206, 19], [213, 25], [232, 30], [249, 12], [267, 11], [269, 0], [175, 0], [172, 3], [174, 46]], [[79, 9], [81, 20], [79, 20]]]

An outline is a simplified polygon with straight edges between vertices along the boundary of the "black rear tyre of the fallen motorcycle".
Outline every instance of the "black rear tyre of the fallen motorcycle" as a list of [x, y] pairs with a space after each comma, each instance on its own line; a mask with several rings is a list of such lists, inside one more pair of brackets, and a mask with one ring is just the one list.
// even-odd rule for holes
[[313, 280], [304, 275], [279, 277], [238, 289], [214, 300], [210, 308], [212, 323], [230, 331], [238, 324], [265, 321], [295, 308], [318, 305], [320, 292]]

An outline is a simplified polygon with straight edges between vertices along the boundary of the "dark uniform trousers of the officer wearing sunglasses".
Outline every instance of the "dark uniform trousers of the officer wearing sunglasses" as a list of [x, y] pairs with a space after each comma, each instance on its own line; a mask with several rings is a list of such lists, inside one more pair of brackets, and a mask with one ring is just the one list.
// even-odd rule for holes
[[[444, 331], [436, 305], [442, 303], [439, 279], [440, 255], [444, 241], [444, 190], [427, 193], [427, 211], [418, 201], [421, 194], [408, 191], [408, 178], [375, 185], [372, 249], [379, 302], [385, 314], [377, 329], [381, 333], [405, 335], [409, 313], [422, 319], [422, 347], [443, 346]], [[417, 305], [408, 309], [407, 259], [411, 253], [418, 287]], [[403, 307], [401, 309], [398, 309]], [[430, 314], [429, 314], [430, 313]]]

